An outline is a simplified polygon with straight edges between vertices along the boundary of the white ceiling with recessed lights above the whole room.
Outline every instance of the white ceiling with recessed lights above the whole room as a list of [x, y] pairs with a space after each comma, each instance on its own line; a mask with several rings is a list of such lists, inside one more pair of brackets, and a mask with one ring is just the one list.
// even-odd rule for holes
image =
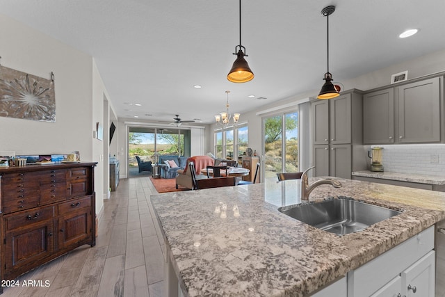
[[[238, 0], [1, 0], [0, 12], [93, 56], [119, 118], [213, 122], [225, 90], [232, 113], [318, 93], [328, 5], [337, 7], [329, 18], [334, 81], [445, 48], [443, 0], [243, 0], [242, 45], [255, 77], [238, 84], [226, 79]], [[398, 38], [412, 28], [419, 33]]]

